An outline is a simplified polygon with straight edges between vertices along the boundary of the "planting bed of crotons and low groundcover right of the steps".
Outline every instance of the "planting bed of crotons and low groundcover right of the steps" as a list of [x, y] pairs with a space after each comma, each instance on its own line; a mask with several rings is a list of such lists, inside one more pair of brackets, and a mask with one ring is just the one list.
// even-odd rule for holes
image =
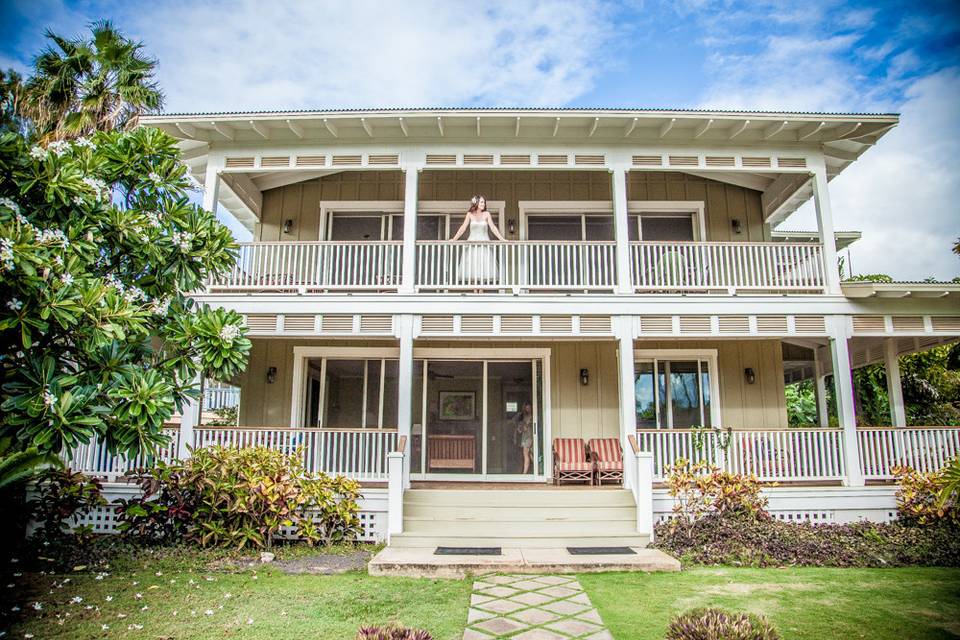
[[960, 566], [960, 526], [940, 501], [937, 474], [901, 470], [900, 518], [848, 524], [785, 522], [766, 511], [756, 478], [689, 465], [669, 469], [674, 517], [656, 544], [688, 564], [734, 566]]

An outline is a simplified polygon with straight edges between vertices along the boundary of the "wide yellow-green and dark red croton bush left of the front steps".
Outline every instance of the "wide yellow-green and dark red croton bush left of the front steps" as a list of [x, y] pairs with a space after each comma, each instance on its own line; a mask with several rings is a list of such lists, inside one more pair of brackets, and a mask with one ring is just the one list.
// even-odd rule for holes
[[121, 501], [121, 530], [153, 542], [269, 548], [289, 528], [308, 544], [355, 540], [360, 485], [308, 474], [301, 451], [204, 447], [136, 474], [142, 495]]

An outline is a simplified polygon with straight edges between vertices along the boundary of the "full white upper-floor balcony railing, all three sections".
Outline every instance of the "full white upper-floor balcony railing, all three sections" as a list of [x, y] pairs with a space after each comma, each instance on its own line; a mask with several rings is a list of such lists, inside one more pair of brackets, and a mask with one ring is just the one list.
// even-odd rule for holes
[[[618, 289], [615, 242], [418, 241], [417, 291], [575, 292]], [[403, 242], [255, 242], [209, 293], [391, 293], [400, 289]], [[819, 293], [822, 247], [785, 242], [631, 242], [637, 293]]]

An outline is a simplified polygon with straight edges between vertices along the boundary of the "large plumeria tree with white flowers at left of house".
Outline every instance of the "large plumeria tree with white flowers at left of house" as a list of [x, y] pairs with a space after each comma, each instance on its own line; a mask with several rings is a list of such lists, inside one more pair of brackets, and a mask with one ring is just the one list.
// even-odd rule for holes
[[201, 375], [243, 369], [242, 318], [189, 298], [235, 259], [192, 188], [156, 129], [0, 134], [0, 437], [150, 452]]

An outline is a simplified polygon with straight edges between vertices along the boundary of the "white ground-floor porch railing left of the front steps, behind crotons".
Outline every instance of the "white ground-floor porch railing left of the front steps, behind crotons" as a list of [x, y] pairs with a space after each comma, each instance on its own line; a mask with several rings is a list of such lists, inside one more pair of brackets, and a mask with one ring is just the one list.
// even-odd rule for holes
[[361, 481], [387, 480], [387, 454], [397, 444], [389, 429], [290, 429], [202, 427], [194, 429], [194, 448], [269, 447], [293, 454], [300, 451], [311, 473], [344, 475]]

